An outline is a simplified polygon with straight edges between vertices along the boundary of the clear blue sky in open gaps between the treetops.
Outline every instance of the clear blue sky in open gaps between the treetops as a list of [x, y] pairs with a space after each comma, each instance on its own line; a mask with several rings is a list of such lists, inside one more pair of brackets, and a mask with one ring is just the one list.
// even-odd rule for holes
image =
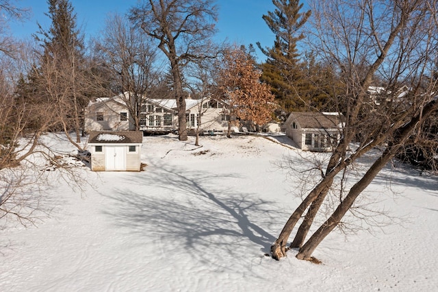
[[[77, 14], [77, 24], [83, 28], [86, 38], [98, 36], [105, 24], [108, 14], [117, 12], [125, 14], [129, 8], [136, 5], [137, 0], [71, 0]], [[19, 5], [31, 8], [31, 19], [25, 23], [10, 23], [12, 34], [18, 38], [27, 38], [37, 32], [37, 21], [44, 28], [50, 26], [49, 19], [44, 13], [48, 10], [46, 0], [20, 0]], [[219, 32], [218, 41], [226, 38], [229, 42], [244, 45], [261, 42], [263, 47], [273, 45], [274, 34], [261, 19], [263, 14], [274, 10], [271, 0], [218, 0]], [[257, 55], [265, 60], [257, 49]], [[260, 60], [260, 61], [261, 61]]]

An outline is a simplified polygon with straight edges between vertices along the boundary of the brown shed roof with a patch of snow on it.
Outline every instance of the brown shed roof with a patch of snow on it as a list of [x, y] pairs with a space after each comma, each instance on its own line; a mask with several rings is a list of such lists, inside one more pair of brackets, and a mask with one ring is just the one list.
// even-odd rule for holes
[[143, 132], [140, 131], [92, 131], [88, 144], [141, 144]]

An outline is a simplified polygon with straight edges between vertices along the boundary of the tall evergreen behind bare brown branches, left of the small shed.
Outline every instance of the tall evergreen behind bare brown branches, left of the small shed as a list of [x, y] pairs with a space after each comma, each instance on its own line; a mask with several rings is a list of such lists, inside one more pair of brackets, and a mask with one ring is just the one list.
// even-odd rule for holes
[[[48, 0], [51, 27], [38, 24], [34, 35], [43, 48], [37, 69], [40, 94], [53, 102], [62, 114], [61, 125], [66, 132], [74, 129], [80, 142], [79, 128], [88, 104], [84, 80], [88, 77], [84, 64], [83, 35], [76, 24], [76, 14], [69, 0]], [[74, 143], [73, 141], [71, 141]]]

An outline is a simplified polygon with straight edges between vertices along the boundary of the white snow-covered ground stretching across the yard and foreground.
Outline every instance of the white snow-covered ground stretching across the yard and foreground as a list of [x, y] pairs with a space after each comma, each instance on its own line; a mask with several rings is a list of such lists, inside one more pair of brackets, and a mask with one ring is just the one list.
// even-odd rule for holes
[[437, 289], [438, 179], [405, 167], [368, 189], [401, 225], [331, 234], [313, 254], [322, 265], [264, 256], [299, 202], [275, 166], [298, 151], [270, 139], [208, 136], [196, 149], [192, 137], [145, 137], [145, 171], [83, 168], [83, 193], [48, 186], [49, 218], [0, 230], [0, 291]]

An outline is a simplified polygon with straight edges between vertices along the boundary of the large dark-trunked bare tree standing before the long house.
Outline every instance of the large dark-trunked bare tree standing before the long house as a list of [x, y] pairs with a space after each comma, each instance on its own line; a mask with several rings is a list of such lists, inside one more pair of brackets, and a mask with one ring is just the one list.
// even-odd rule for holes
[[181, 141], [188, 139], [183, 69], [188, 62], [214, 56], [205, 44], [216, 31], [216, 18], [217, 8], [211, 0], [147, 0], [130, 12], [131, 21], [157, 40], [170, 63]]

